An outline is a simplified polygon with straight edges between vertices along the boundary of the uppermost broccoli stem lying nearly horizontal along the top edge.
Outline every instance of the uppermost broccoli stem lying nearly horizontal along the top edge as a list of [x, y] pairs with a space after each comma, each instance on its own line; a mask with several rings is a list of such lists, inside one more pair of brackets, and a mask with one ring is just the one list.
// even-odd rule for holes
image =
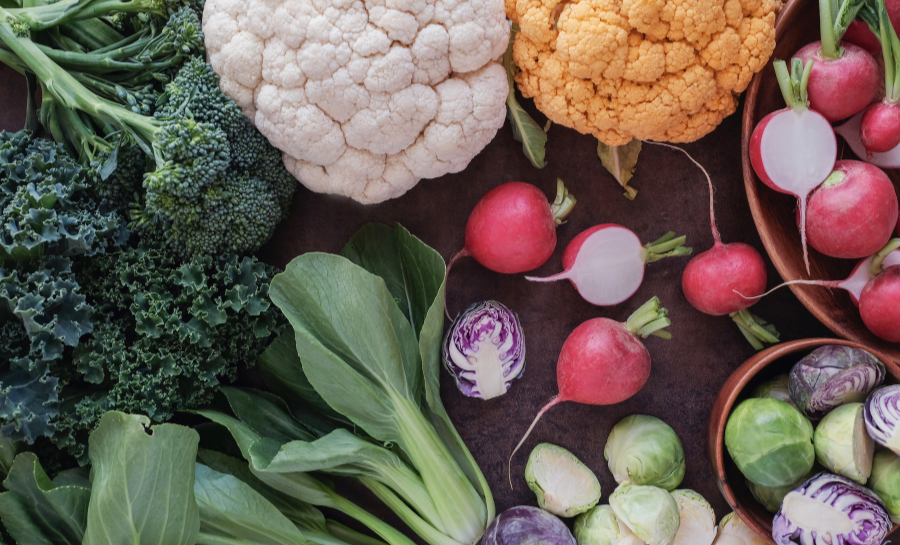
[[47, 30], [110, 13], [152, 13], [160, 17], [167, 15], [164, 3], [160, 0], [62, 0], [45, 6], [9, 9], [5, 16], [15, 17], [31, 30]]

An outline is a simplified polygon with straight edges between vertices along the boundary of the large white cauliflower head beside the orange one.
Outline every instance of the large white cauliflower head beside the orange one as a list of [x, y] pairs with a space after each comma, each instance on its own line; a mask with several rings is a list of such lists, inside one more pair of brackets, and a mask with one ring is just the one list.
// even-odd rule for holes
[[313, 191], [398, 197], [503, 125], [503, 0], [207, 0], [203, 31], [222, 90]]

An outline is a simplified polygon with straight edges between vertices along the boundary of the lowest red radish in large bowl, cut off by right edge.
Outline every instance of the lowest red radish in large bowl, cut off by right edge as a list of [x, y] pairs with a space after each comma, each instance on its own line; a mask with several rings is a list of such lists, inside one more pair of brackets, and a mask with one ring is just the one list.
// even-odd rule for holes
[[891, 240], [872, 260], [875, 275], [859, 297], [859, 315], [869, 331], [888, 342], [900, 342], [900, 265], [889, 265], [886, 256], [900, 248]]

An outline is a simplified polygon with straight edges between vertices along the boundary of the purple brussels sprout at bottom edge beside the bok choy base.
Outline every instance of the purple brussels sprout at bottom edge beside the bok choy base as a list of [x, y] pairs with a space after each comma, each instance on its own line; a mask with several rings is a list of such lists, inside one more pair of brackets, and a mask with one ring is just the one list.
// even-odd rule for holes
[[480, 545], [576, 545], [561, 520], [537, 507], [512, 507], [497, 515]]

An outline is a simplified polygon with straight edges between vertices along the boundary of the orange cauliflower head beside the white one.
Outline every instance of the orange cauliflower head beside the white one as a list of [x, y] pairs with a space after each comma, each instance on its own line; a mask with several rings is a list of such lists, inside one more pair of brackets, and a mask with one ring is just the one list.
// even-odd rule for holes
[[692, 142], [737, 108], [775, 49], [781, 0], [505, 0], [522, 94], [618, 146]]

